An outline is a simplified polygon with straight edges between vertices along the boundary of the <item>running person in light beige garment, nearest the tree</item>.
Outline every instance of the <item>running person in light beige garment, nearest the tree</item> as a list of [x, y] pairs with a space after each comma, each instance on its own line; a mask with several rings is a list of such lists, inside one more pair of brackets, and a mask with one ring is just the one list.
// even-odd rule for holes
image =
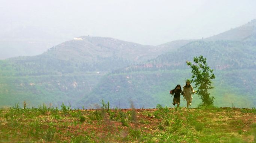
[[191, 94], [194, 94], [195, 91], [193, 90], [193, 87], [190, 85], [190, 80], [186, 80], [186, 85], [183, 86], [183, 96], [185, 96], [185, 99], [187, 101], [187, 108], [189, 105], [191, 106], [192, 102], [192, 96]]

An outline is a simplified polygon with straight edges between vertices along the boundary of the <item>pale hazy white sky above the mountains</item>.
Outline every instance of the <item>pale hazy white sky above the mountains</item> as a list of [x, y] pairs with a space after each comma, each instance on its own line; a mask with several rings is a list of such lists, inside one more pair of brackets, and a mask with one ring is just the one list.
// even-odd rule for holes
[[256, 18], [256, 0], [0, 0], [0, 59], [78, 36], [159, 45], [201, 39]]

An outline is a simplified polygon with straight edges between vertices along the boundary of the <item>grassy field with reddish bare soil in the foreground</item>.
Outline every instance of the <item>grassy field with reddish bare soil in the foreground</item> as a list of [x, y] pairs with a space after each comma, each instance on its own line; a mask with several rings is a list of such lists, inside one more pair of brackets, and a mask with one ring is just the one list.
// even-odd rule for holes
[[0, 109], [0, 142], [256, 143], [256, 109]]

